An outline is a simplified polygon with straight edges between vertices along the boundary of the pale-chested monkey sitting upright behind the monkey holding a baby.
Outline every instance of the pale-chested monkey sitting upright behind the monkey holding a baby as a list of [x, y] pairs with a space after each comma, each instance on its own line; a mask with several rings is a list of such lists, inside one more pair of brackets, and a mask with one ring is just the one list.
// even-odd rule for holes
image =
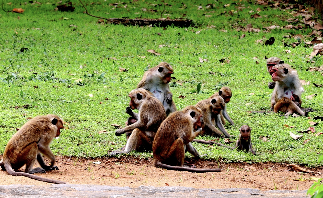
[[[146, 89], [161, 101], [165, 108], [166, 115], [176, 111], [173, 94], [169, 90], [168, 84], [171, 82], [171, 75], [173, 73], [173, 68], [170, 64], [161, 62], [157, 66], [146, 71], [137, 85], [137, 89]], [[129, 107], [126, 108], [126, 113], [132, 117], [138, 117], [138, 114], [133, 113]]]

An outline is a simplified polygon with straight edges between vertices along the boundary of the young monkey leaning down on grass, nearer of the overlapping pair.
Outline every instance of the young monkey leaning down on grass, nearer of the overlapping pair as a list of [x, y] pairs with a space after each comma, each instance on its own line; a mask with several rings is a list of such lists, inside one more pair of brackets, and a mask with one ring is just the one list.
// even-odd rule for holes
[[[221, 110], [224, 110], [225, 102], [221, 96], [215, 96], [214, 98], [209, 98], [202, 100], [195, 104], [195, 107], [201, 109], [203, 115], [203, 132], [201, 133], [210, 136], [220, 136], [221, 138], [231, 137], [224, 128], [221, 121]], [[220, 129], [220, 131], [215, 127], [215, 125]]]

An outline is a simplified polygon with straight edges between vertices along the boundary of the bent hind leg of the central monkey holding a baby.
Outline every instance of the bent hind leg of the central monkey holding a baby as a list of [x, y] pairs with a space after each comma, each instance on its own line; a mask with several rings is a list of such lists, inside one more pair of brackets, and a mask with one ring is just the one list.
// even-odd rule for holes
[[147, 150], [152, 150], [153, 139], [149, 137], [145, 132], [142, 132], [140, 129], [134, 129], [123, 150], [117, 150], [109, 153], [110, 155], [116, 155], [121, 153], [130, 153], [131, 151], [136, 151], [140, 147], [144, 147]]

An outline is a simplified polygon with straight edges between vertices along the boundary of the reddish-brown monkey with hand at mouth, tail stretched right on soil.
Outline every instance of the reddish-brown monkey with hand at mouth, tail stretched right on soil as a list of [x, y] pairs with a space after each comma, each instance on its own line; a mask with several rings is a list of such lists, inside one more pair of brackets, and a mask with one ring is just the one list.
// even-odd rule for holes
[[183, 111], [170, 114], [159, 127], [153, 145], [153, 166], [168, 170], [189, 171], [193, 173], [220, 172], [221, 168], [196, 169], [183, 167], [185, 145], [202, 131], [201, 111], [187, 106]]

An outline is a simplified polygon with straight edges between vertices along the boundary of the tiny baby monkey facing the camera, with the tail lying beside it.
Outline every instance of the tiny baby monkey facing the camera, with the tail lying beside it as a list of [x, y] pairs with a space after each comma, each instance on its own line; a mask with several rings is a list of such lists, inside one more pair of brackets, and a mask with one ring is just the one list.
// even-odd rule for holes
[[243, 125], [239, 129], [240, 134], [239, 138], [235, 144], [235, 147], [227, 146], [221, 143], [213, 142], [213, 141], [206, 141], [206, 140], [192, 140], [192, 142], [198, 142], [198, 143], [203, 143], [203, 144], [217, 144], [220, 146], [225, 146], [230, 149], [237, 149], [237, 150], [245, 150], [245, 151], [250, 151], [252, 154], [256, 154], [256, 152], [252, 149], [252, 143], [251, 143], [251, 128], [248, 125]]

